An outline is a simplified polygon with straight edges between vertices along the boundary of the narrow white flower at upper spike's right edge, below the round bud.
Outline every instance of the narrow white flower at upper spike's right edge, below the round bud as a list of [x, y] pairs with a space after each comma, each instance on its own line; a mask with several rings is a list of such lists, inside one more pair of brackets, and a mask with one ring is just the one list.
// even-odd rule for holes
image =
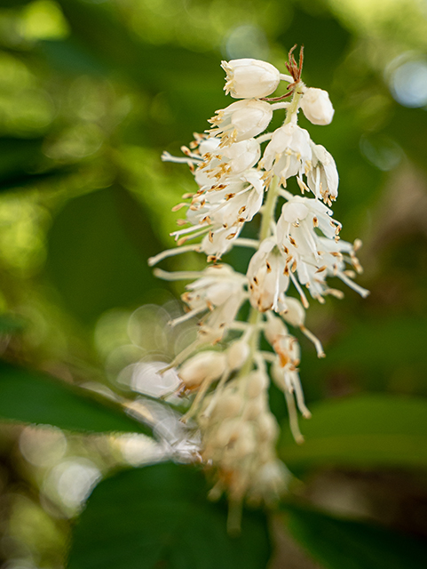
[[312, 143], [312, 170], [307, 173], [308, 187], [328, 205], [338, 196], [338, 172], [334, 158], [320, 144]]

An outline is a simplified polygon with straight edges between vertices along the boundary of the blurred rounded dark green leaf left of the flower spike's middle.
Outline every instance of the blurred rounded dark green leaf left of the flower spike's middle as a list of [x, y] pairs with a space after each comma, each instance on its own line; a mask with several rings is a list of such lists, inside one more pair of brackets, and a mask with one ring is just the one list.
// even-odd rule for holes
[[146, 258], [162, 251], [141, 205], [122, 187], [68, 202], [49, 235], [47, 270], [75, 315], [139, 305], [158, 286]]

